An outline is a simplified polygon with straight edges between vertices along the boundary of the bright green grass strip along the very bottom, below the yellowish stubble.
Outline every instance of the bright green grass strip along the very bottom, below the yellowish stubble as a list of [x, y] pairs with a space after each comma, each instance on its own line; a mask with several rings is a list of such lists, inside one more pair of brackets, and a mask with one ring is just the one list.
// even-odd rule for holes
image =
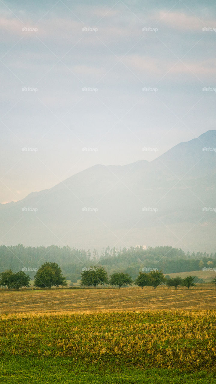
[[[117, 364], [116, 364], [117, 362]], [[113, 361], [108, 366], [86, 364], [72, 358], [0, 359], [0, 382], [7, 384], [214, 384], [214, 372], [181, 372], [178, 369], [141, 369]]]

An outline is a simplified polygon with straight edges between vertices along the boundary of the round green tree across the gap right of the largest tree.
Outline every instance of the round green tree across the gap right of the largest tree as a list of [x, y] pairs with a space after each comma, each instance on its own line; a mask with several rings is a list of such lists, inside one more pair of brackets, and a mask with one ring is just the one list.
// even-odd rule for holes
[[104, 285], [108, 283], [107, 273], [103, 267], [92, 266], [88, 271], [81, 273], [81, 285], [93, 285], [96, 287], [98, 284]]

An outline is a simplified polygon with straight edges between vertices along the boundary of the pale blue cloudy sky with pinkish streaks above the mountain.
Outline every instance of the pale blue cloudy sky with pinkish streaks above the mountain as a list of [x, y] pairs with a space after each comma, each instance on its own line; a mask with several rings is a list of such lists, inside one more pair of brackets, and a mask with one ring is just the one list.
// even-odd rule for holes
[[0, 203], [215, 129], [213, 1], [0, 1]]

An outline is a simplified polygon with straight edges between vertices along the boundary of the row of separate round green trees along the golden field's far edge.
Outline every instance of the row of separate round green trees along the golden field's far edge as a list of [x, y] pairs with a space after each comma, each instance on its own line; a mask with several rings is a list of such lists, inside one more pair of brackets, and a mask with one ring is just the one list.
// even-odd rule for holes
[[[86, 268], [87, 269], [87, 268]], [[213, 279], [213, 283], [216, 284], [216, 277]], [[55, 262], [45, 262], [38, 269], [34, 286], [39, 288], [51, 288], [52, 286], [67, 286], [66, 277], [63, 276], [61, 268]], [[97, 285], [112, 285], [118, 286], [119, 289], [122, 286], [137, 285], [142, 289], [144, 286], [153, 286], [154, 289], [158, 285], [166, 284], [169, 287], [178, 288], [179, 286], [186, 286], [188, 289], [194, 286], [194, 277], [187, 276], [182, 279], [179, 276], [174, 278], [165, 277], [162, 271], [150, 271], [140, 272], [135, 280], [128, 273], [114, 272], [108, 278], [108, 274], [102, 266], [92, 266], [81, 273], [81, 285], [82, 286], [94, 286]], [[7, 287], [8, 289], [19, 289], [21, 287], [30, 286], [30, 276], [24, 271], [18, 271], [14, 273], [11, 269], [5, 270], [0, 273], [0, 286]]]

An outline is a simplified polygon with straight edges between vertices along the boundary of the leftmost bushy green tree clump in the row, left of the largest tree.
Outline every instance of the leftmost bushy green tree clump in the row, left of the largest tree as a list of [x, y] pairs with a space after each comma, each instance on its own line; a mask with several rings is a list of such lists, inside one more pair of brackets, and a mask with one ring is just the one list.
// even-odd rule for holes
[[23, 271], [13, 273], [11, 269], [5, 270], [0, 273], [0, 286], [7, 286], [8, 289], [19, 289], [22, 286], [29, 286], [29, 275], [26, 275]]

